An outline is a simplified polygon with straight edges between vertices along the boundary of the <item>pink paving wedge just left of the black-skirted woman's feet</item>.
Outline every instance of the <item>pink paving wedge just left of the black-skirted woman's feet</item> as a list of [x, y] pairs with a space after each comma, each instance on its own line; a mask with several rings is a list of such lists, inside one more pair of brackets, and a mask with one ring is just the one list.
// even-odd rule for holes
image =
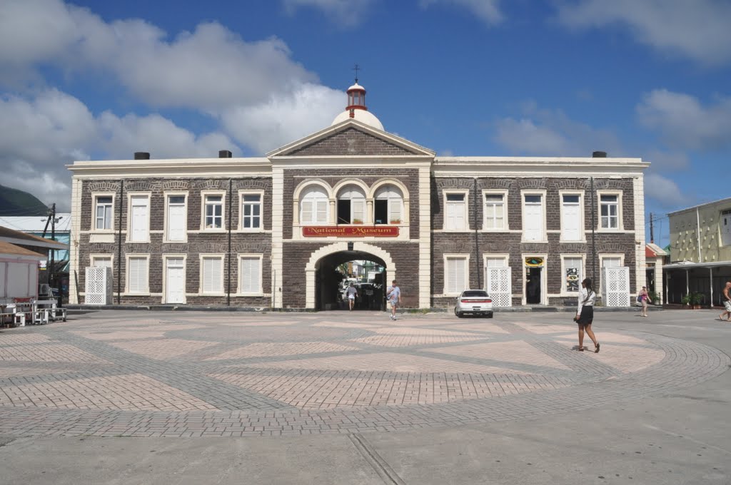
[[541, 365], [556, 369], [569, 368], [522, 340], [514, 342], [474, 343], [456, 347], [431, 348], [429, 350], [442, 354], [515, 362], [516, 364]]

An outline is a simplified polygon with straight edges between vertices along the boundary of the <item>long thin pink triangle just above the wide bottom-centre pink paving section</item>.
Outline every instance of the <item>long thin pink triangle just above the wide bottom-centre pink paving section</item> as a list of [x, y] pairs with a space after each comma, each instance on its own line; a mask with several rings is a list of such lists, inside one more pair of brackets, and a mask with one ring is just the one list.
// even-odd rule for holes
[[320, 369], [320, 370], [363, 370], [392, 371], [401, 373], [519, 373], [501, 367], [451, 362], [431, 357], [412, 356], [382, 352], [379, 354], [358, 354], [352, 356], [320, 357], [298, 359], [291, 362], [262, 362], [249, 367], [270, 369]]

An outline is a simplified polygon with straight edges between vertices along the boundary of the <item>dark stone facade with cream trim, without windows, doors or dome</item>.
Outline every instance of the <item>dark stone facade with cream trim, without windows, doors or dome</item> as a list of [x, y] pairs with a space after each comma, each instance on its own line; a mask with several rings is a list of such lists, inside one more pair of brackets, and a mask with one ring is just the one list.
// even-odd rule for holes
[[[154, 164], [151, 168], [143, 163]], [[143, 168], [144, 167], [144, 168]], [[469, 256], [467, 286], [485, 286], [485, 256], [507, 256], [512, 267], [512, 305], [526, 303], [525, 257], [545, 259], [544, 296], [541, 304], [561, 305], [575, 296], [564, 291], [562, 255], [585, 259], [589, 274], [593, 259], [591, 244], [591, 185], [598, 194], [610, 191], [621, 196], [621, 227], [596, 231], [596, 264], [602, 254], [621, 255], [630, 268], [629, 285], [644, 281], [644, 261], [636, 251], [644, 240], [644, 204], [636, 194], [637, 180], [647, 167], [639, 159], [459, 159], [436, 157], [433, 152], [408, 140], [349, 119], [329, 129], [293, 142], [261, 159], [199, 159], [128, 162], [76, 162], [75, 210], [79, 221], [72, 237], [72, 261], [77, 283], [74, 291], [83, 302], [85, 274], [91, 255], [113, 259], [114, 302], [128, 305], [165, 303], [166, 255], [185, 258], [186, 305], [235, 305], [249, 308], [323, 309], [330, 298], [325, 286], [327, 271], [340, 262], [371, 259], [386, 267], [384, 278], [397, 278], [405, 308], [433, 308], [452, 304], [455, 295], [444, 290], [444, 254]], [[105, 172], [105, 170], [107, 172]], [[105, 173], [107, 176], [105, 176]], [[317, 183], [327, 193], [330, 220], [338, 207], [338, 191], [357, 186], [366, 194], [366, 221], [374, 225], [376, 189], [395, 186], [403, 194], [402, 219], [388, 225], [398, 235], [389, 237], [306, 237], [300, 219], [298, 194]], [[123, 188], [124, 184], [124, 188]], [[203, 227], [206, 191], [224, 195], [224, 227]], [[256, 232], [240, 229], [239, 191], [262, 194], [262, 226]], [[445, 191], [466, 194], [466, 227], [444, 229]], [[503, 191], [508, 225], [504, 230], [483, 227], [483, 191]], [[523, 240], [523, 191], [545, 194], [545, 240]], [[582, 196], [583, 240], [561, 240], [561, 193]], [[149, 242], [129, 242], [129, 194], [150, 197]], [[186, 194], [185, 242], [165, 242], [166, 193]], [[94, 196], [113, 196], [112, 229], [94, 230]], [[599, 202], [594, 201], [599, 220]], [[229, 230], [230, 224], [230, 230]], [[598, 224], [598, 223], [597, 223]], [[377, 227], [377, 226], [374, 226]], [[383, 226], [381, 226], [383, 227]], [[121, 239], [120, 239], [121, 234]], [[119, 255], [121, 254], [121, 259]], [[126, 294], [126, 260], [148, 255], [148, 294]], [[202, 294], [200, 256], [223, 257], [224, 291]], [[261, 293], [238, 294], [238, 255], [261, 256]], [[641, 268], [638, 271], [637, 268]], [[73, 280], [74, 278], [72, 278]], [[325, 283], [324, 283], [325, 282]]]

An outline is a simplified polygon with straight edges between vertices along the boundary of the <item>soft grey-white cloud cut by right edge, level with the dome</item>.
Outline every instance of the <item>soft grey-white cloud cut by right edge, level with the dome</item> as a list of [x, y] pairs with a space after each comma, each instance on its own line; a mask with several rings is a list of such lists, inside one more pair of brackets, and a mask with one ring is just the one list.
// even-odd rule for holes
[[689, 94], [659, 89], [637, 105], [637, 116], [673, 146], [713, 150], [731, 145], [731, 98], [703, 106]]

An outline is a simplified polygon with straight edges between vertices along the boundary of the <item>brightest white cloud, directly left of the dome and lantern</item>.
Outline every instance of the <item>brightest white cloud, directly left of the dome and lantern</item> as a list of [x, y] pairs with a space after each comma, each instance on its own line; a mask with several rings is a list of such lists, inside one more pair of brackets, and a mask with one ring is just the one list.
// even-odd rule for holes
[[223, 110], [221, 123], [235, 140], [264, 154], [288, 142], [327, 128], [344, 110], [341, 91], [305, 84], [285, 96], [254, 106]]

